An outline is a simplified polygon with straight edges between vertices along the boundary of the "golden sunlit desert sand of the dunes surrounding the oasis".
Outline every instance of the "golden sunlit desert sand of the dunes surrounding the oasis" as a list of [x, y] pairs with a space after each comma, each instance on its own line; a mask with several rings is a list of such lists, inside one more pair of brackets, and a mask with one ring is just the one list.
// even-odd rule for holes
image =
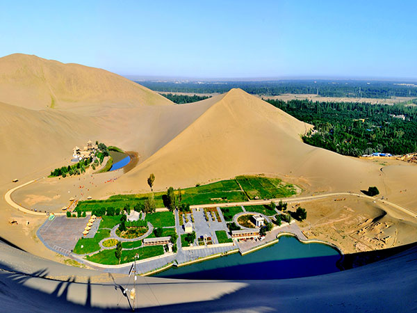
[[[168, 186], [194, 186], [236, 175], [265, 173], [297, 184], [302, 188], [303, 195], [347, 191], [360, 193], [361, 189], [367, 189], [368, 186], [377, 186], [381, 196], [417, 212], [416, 166], [407, 163], [384, 166], [306, 145], [300, 136], [311, 125], [296, 120], [243, 90], [234, 89], [202, 102], [176, 106], [161, 95], [104, 70], [19, 54], [0, 58], [0, 102], [0, 193], [4, 195], [16, 186], [11, 182], [12, 179], [19, 179], [18, 184], [40, 179], [13, 195], [16, 201], [28, 206], [49, 205], [59, 208], [61, 204], [67, 203], [68, 191], [70, 194], [76, 192], [79, 182], [85, 181], [85, 184], [90, 183], [92, 186], [92, 178], [88, 178], [88, 175], [65, 179], [47, 178], [51, 170], [68, 164], [72, 147], [84, 145], [91, 139], [138, 152], [140, 161], [136, 168], [126, 174], [118, 172], [97, 175], [94, 181], [99, 184], [96, 183], [97, 186], [84, 192], [85, 197], [91, 195], [99, 199], [115, 193], [148, 191], [146, 179], [151, 172], [156, 176], [155, 191], [165, 190]], [[113, 175], [117, 175], [117, 180], [104, 184]], [[333, 234], [329, 228], [322, 227], [330, 225], [345, 227], [343, 232], [349, 234], [350, 243], [352, 238], [365, 241], [366, 238], [361, 237], [362, 233], [354, 232], [371, 224], [361, 225], [363, 220], [382, 216], [384, 211], [386, 215], [380, 221], [389, 224], [386, 227], [387, 234], [392, 231], [398, 244], [415, 241], [415, 221], [405, 220], [404, 216], [392, 208], [377, 207], [359, 200], [349, 200], [335, 206], [329, 204], [331, 201], [334, 200], [307, 204], [311, 210], [311, 217], [307, 221], [315, 224], [313, 230], [302, 225], [306, 232], [310, 232], [309, 236], [326, 240]], [[323, 216], [320, 217], [321, 210]], [[343, 218], [348, 215], [351, 215], [355, 225], [337, 224], [345, 223]], [[325, 219], [320, 220], [323, 217]], [[17, 220], [17, 225], [10, 225], [11, 219]], [[17, 211], [1, 197], [0, 237], [35, 255], [63, 262], [62, 257], [47, 250], [36, 238], [35, 232], [43, 222], [44, 217]], [[377, 232], [373, 226], [379, 227], [370, 225], [366, 234], [374, 230]], [[390, 227], [393, 228], [390, 230]], [[395, 230], [398, 232], [396, 235]], [[404, 239], [408, 234], [414, 235]], [[346, 243], [347, 248], [352, 249], [349, 251], [363, 248], [359, 246], [355, 250], [349, 246], [350, 243]], [[377, 247], [378, 243], [374, 246]], [[371, 248], [374, 246], [370, 245]], [[392, 246], [395, 246], [395, 241], [386, 244], [387, 248]], [[10, 266], [15, 261], [14, 266], [24, 266], [19, 257], [22, 255], [12, 251], [2, 263]], [[48, 271], [61, 268], [61, 265], [55, 266], [58, 265], [45, 264], [46, 268], [50, 268]], [[381, 271], [377, 266], [373, 268], [376, 272]], [[26, 271], [31, 269], [26, 268]], [[81, 272], [74, 270], [74, 275], [76, 273], [81, 275]], [[331, 275], [323, 280], [332, 280], [327, 277]], [[4, 280], [10, 283], [9, 278]], [[40, 278], [31, 279], [25, 286], [40, 288], [43, 282]], [[313, 280], [305, 282], [312, 284]], [[56, 288], [54, 283], [44, 286], [44, 292], [48, 293]], [[76, 295], [83, 294], [88, 287], [85, 284], [77, 286], [74, 286], [76, 291], [69, 297], [79, 303], [79, 300], [75, 300]], [[162, 295], [169, 286], [158, 284], [157, 292]], [[256, 284], [247, 282], [216, 282], [213, 286], [215, 291], [207, 291], [205, 296], [194, 299], [227, 299], [227, 294], [238, 289], [256, 289]], [[285, 282], [282, 287], [285, 287]], [[16, 288], [19, 290], [22, 285]], [[92, 288], [104, 294], [110, 294], [109, 290], [114, 289], [111, 285]], [[178, 290], [182, 288], [184, 286]], [[200, 293], [191, 296], [197, 294]], [[240, 299], [242, 295], [240, 293]], [[163, 304], [188, 302], [178, 297], [179, 294], [172, 294]], [[99, 302], [97, 296], [95, 301], [95, 304]], [[113, 303], [113, 298], [108, 301]], [[106, 301], [104, 303], [108, 304]], [[146, 303], [149, 306], [158, 305], [158, 301], [154, 300]], [[223, 307], [222, 310], [228, 308]], [[302, 310], [302, 307], [299, 308]]]

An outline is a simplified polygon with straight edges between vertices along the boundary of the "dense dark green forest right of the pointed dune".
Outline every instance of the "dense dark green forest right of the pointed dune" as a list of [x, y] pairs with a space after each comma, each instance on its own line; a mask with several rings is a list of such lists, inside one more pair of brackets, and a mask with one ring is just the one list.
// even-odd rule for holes
[[[315, 125], [313, 134], [302, 137], [309, 145], [353, 157], [374, 152], [407, 154], [417, 151], [416, 106], [265, 101], [298, 120]], [[398, 115], [404, 115], [404, 120]]]

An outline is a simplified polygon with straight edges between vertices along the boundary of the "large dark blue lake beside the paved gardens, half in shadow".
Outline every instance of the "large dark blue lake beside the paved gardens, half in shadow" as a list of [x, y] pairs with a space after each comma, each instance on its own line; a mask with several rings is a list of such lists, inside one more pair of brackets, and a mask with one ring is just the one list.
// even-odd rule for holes
[[172, 267], [156, 277], [202, 280], [271, 280], [322, 275], [340, 271], [341, 255], [321, 243], [301, 243], [281, 236], [273, 246], [248, 255], [235, 253], [183, 267]]

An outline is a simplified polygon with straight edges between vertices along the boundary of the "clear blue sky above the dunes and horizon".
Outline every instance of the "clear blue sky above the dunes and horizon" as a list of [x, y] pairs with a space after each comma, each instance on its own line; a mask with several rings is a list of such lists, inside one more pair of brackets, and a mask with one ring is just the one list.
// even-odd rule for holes
[[0, 56], [156, 77], [417, 78], [416, 21], [417, 1], [1, 1]]

